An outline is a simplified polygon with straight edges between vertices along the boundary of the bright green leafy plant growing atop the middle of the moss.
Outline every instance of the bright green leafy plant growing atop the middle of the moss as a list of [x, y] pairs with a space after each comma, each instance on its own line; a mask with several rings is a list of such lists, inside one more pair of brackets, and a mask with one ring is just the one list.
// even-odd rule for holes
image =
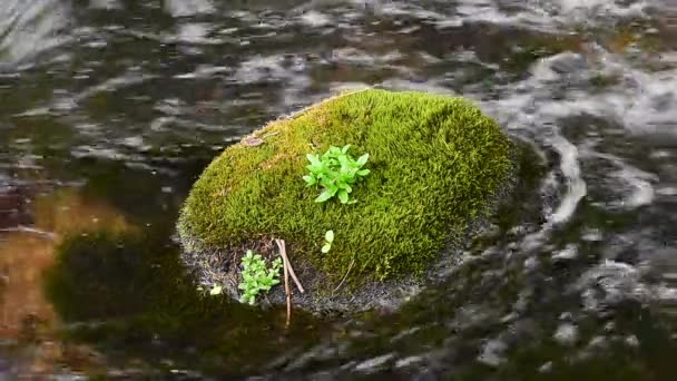
[[[303, 176], [308, 186], [322, 186], [323, 192], [315, 198], [316, 203], [324, 203], [334, 196], [338, 196], [342, 204], [349, 204], [350, 193], [353, 185], [360, 177], [369, 175], [369, 169], [362, 167], [369, 160], [369, 154], [360, 156], [356, 160], [347, 153], [351, 145], [343, 148], [331, 146], [322, 157], [307, 154], [310, 165], [306, 168], [311, 172]], [[352, 201], [351, 203], [354, 203]]]

